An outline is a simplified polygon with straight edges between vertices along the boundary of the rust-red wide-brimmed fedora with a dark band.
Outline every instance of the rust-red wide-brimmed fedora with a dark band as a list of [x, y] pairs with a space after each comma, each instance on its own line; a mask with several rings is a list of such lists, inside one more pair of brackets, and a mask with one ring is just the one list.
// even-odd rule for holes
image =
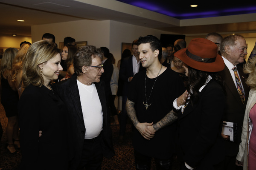
[[205, 38], [195, 38], [187, 48], [177, 51], [174, 56], [197, 70], [218, 72], [224, 70], [225, 64], [217, 51], [218, 47], [214, 42]]

